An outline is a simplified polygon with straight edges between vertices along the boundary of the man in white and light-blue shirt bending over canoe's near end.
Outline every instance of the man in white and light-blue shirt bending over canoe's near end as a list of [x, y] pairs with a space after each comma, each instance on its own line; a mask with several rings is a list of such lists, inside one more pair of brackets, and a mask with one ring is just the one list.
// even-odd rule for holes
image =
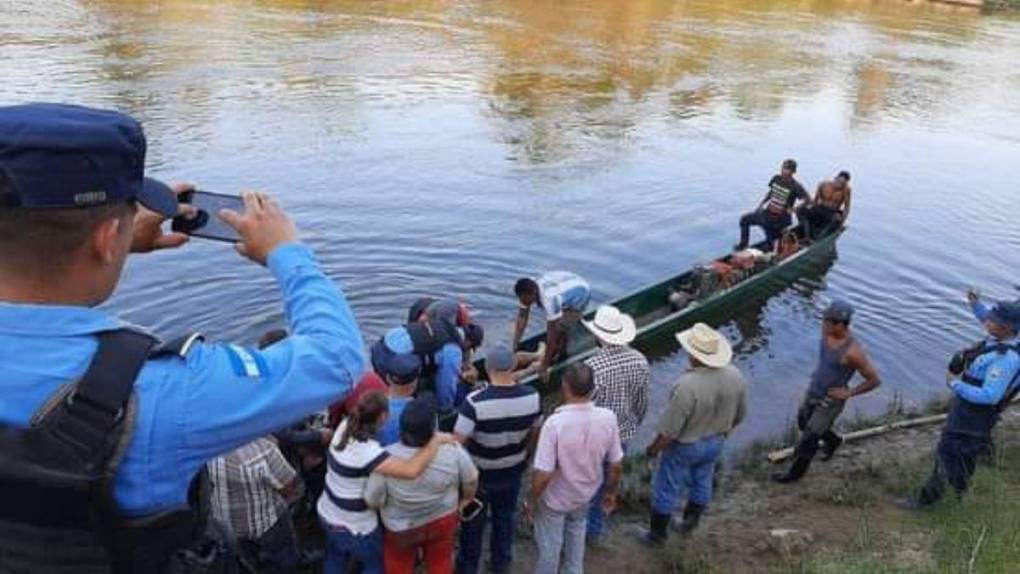
[[574, 273], [549, 271], [536, 279], [517, 279], [513, 292], [520, 303], [513, 333], [515, 350], [527, 328], [531, 306], [538, 305], [546, 312], [546, 353], [539, 365], [539, 374], [547, 380], [549, 366], [567, 352], [567, 331], [580, 321], [592, 290], [588, 281]]

